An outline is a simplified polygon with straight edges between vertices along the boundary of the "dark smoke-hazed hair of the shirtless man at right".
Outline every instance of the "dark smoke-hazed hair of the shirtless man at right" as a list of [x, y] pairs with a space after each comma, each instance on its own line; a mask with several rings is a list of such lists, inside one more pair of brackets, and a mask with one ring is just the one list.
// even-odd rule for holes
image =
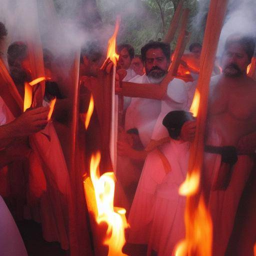
[[243, 47], [250, 62], [255, 50], [255, 38], [253, 38], [252, 36], [240, 34], [229, 35], [226, 39], [224, 50], [226, 50], [233, 43], [238, 43]]

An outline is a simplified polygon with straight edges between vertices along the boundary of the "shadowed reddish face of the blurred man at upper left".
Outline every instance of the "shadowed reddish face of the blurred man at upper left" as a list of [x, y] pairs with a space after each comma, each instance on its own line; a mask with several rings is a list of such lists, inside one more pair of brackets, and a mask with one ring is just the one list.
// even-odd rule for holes
[[31, 80], [31, 69], [27, 56], [11, 58], [8, 56], [10, 75], [15, 83]]

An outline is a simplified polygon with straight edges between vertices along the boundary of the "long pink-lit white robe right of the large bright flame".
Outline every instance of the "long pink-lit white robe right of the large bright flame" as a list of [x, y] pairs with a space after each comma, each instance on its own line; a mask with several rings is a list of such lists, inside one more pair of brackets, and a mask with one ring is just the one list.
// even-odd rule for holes
[[148, 154], [128, 217], [128, 242], [148, 244], [159, 255], [165, 251], [171, 255], [184, 234], [185, 199], [178, 195], [178, 186], [185, 179], [189, 143], [171, 140], [160, 151], [171, 171], [166, 174], [156, 150]]

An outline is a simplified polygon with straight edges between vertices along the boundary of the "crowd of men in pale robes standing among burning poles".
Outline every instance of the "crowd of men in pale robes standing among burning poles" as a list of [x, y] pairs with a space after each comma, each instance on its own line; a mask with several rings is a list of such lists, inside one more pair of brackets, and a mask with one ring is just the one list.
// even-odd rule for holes
[[[0, 32], [3, 40], [7, 30], [2, 23]], [[116, 203], [127, 210], [130, 255], [137, 255], [134, 251], [140, 245], [148, 255], [171, 255], [185, 236], [185, 197], [179, 195], [178, 188], [186, 177], [196, 130], [196, 118], [189, 109], [201, 49], [200, 43], [192, 43], [175, 75], [167, 80], [172, 61], [169, 44], [149, 41], [140, 55], [130, 44], [117, 46], [115, 93], [123, 98], [123, 106], [118, 127]], [[246, 75], [254, 49], [254, 38], [230, 35], [220, 57], [222, 72], [215, 67], [210, 80], [201, 184], [212, 217], [213, 256], [225, 255], [239, 200], [254, 166], [256, 82]], [[42, 106], [33, 101], [37, 107], [24, 112], [24, 83], [31, 81], [28, 46], [22, 41], [12, 42], [7, 64], [0, 58], [0, 195], [5, 200], [0, 197], [0, 214], [8, 219], [0, 220], [0, 251], [4, 256], [26, 255], [6, 204], [14, 219], [40, 221], [47, 241], [59, 241], [63, 249], [77, 243], [73, 232], [77, 212], [66, 158], [47, 118], [52, 98], [56, 98], [56, 119], [65, 118], [63, 111], [70, 104], [54, 77], [52, 58], [52, 53], [43, 49], [46, 82]], [[102, 72], [103, 60], [103, 51], [96, 43], [81, 49], [80, 113], [86, 112], [93, 77]], [[87, 131], [96, 145], [100, 140], [92, 133], [97, 133], [99, 125], [97, 120], [95, 129]], [[12, 243], [3, 237], [5, 232], [16, 237]]]

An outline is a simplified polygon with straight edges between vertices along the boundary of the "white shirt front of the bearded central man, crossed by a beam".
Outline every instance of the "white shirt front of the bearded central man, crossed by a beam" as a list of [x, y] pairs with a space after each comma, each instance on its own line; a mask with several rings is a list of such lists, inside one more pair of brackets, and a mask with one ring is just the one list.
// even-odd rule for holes
[[[144, 75], [135, 76], [130, 82], [150, 83]], [[139, 138], [145, 147], [151, 139], [156, 119], [160, 113], [161, 101], [150, 98], [131, 98], [125, 114], [124, 129], [137, 128]]]

